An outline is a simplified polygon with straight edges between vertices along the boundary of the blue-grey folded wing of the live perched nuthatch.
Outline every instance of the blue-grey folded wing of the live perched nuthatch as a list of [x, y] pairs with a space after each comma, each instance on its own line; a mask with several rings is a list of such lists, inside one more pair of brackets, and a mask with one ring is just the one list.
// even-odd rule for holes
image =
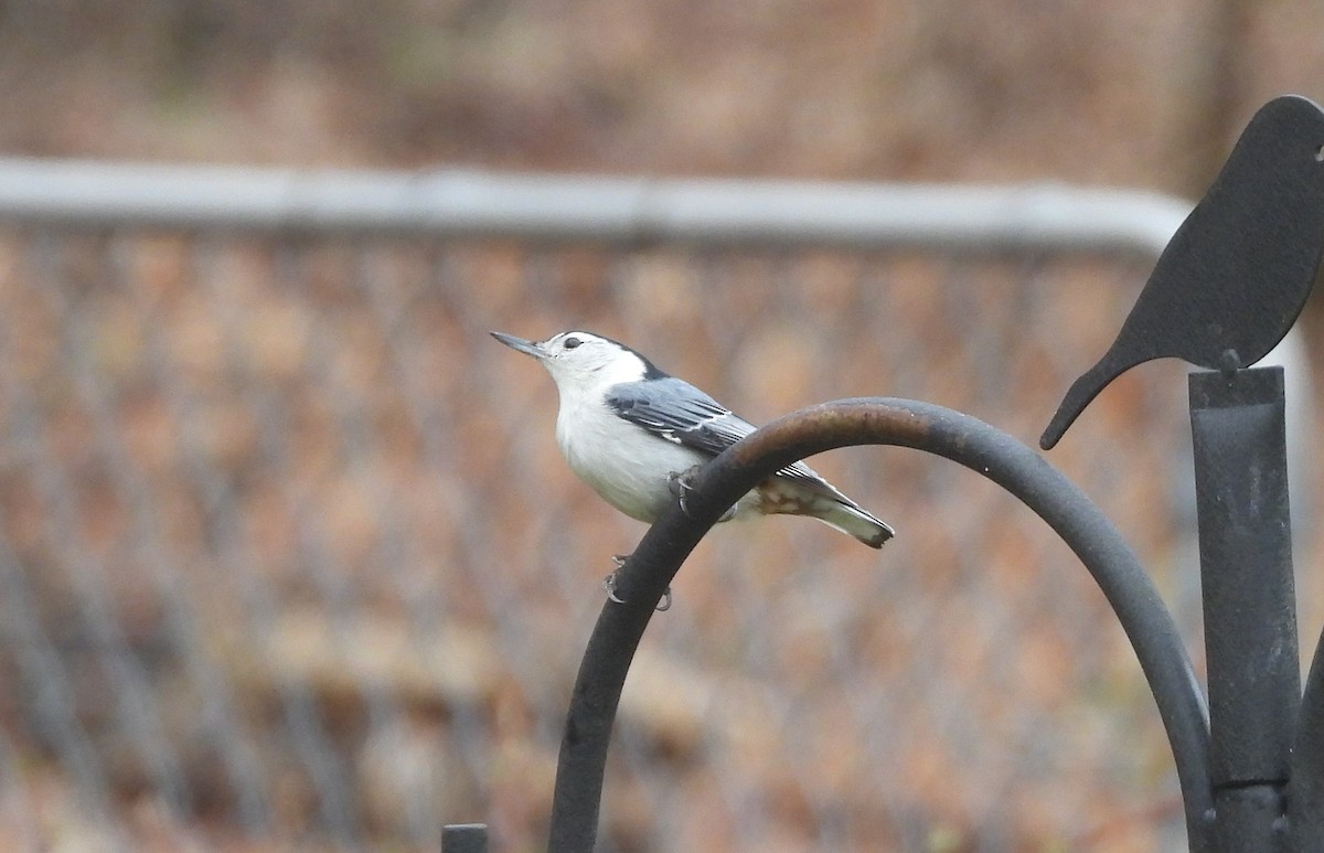
[[[756, 429], [749, 421], [675, 376], [614, 385], [606, 393], [606, 404], [636, 426], [708, 456], [722, 453]], [[777, 474], [828, 486], [804, 462], [788, 465]]]

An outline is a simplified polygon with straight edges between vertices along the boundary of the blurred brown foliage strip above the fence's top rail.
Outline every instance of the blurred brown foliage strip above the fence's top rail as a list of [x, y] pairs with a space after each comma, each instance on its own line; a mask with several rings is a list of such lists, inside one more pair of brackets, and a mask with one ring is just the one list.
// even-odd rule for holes
[[5, 0], [0, 151], [1198, 193], [1311, 0]]

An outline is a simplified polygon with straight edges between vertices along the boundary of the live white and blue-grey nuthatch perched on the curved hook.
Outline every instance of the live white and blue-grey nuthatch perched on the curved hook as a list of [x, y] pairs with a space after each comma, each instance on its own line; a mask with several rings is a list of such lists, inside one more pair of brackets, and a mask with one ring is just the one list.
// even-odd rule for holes
[[[653, 523], [678, 478], [755, 430], [690, 383], [622, 343], [563, 331], [542, 343], [491, 332], [538, 359], [556, 381], [556, 444], [580, 479], [630, 518]], [[723, 517], [808, 515], [879, 548], [892, 528], [804, 462], [764, 479]]]

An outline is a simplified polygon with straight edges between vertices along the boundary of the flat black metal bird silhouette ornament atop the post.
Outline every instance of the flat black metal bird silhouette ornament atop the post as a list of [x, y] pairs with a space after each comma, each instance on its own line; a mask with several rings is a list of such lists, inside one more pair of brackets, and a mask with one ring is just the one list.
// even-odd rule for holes
[[1067, 391], [1039, 438], [1051, 449], [1110, 381], [1180, 358], [1254, 364], [1291, 328], [1324, 252], [1324, 111], [1284, 95], [1251, 118], [1209, 192], [1158, 257], [1104, 356]]

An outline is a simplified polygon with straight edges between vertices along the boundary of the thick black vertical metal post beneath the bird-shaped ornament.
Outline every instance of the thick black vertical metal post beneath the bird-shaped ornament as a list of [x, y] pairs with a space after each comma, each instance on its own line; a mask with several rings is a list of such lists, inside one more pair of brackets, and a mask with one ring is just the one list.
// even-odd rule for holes
[[1214, 849], [1286, 849], [1300, 705], [1283, 370], [1190, 375]]

